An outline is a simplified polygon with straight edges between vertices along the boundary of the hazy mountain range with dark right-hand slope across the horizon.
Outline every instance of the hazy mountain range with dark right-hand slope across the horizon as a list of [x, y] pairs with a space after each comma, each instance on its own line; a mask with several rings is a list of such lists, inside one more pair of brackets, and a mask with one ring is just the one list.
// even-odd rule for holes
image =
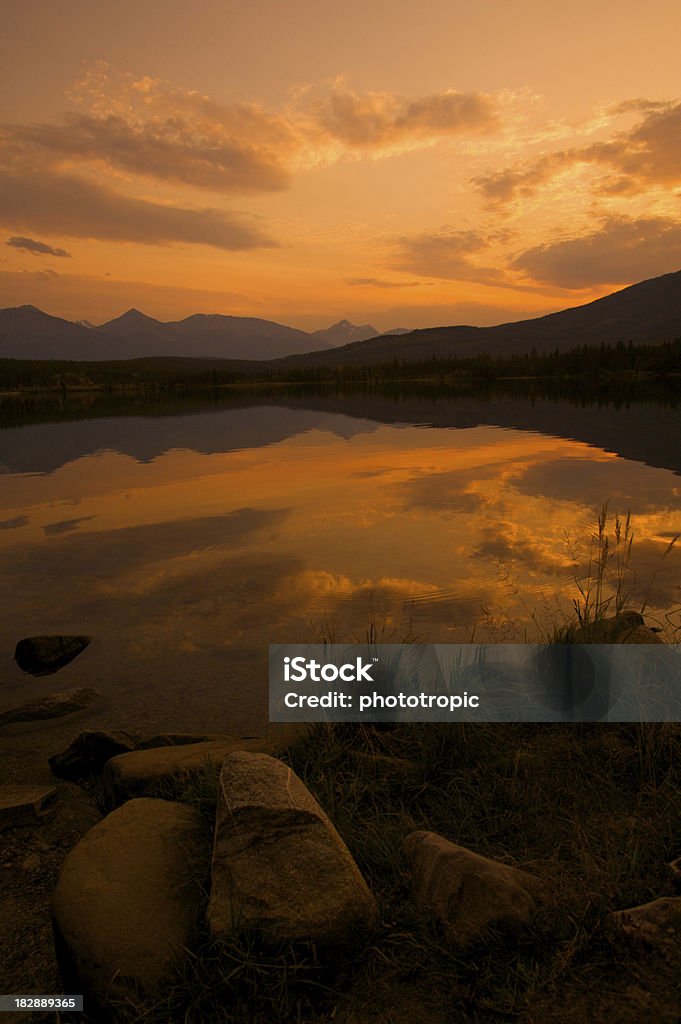
[[681, 270], [534, 319], [386, 334], [349, 321], [309, 334], [273, 321], [217, 313], [163, 323], [137, 309], [92, 327], [35, 306], [0, 309], [0, 357], [25, 359], [184, 356], [254, 360], [254, 369], [265, 360], [286, 368], [547, 352], [602, 342], [654, 344], [680, 337]]

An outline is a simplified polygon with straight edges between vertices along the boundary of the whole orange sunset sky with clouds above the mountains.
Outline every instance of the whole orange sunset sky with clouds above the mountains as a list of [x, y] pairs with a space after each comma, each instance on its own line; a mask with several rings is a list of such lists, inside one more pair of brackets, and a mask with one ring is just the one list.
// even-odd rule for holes
[[681, 268], [671, 0], [0, 10], [0, 306], [483, 325]]

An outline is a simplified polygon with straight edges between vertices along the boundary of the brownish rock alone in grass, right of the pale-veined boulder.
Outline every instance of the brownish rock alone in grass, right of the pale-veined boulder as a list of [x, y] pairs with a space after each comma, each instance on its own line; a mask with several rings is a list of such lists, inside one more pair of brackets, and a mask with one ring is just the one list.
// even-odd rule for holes
[[481, 857], [431, 831], [415, 831], [403, 843], [417, 903], [460, 948], [496, 930], [519, 932], [537, 909], [539, 880], [508, 864]]

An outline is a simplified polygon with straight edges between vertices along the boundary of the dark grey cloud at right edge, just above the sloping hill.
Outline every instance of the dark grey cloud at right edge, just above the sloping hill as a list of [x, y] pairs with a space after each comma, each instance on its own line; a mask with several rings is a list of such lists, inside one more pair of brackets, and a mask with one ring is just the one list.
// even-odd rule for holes
[[681, 266], [681, 222], [664, 217], [607, 217], [590, 234], [525, 250], [512, 266], [560, 288], [655, 278]]

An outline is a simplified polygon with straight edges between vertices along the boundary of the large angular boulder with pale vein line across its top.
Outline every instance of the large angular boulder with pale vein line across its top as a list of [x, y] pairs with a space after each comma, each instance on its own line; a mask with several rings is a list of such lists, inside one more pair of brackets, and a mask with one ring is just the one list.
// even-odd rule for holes
[[333, 824], [282, 761], [225, 758], [218, 787], [208, 921], [225, 939], [251, 931], [268, 945], [356, 943], [376, 902]]

